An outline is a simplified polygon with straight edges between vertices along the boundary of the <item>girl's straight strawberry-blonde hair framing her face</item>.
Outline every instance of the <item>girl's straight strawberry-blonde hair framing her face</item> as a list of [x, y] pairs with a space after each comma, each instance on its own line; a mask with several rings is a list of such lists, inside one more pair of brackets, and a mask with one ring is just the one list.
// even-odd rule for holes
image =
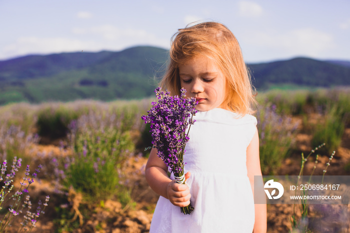
[[178, 66], [199, 55], [212, 58], [226, 78], [224, 103], [239, 114], [253, 112], [256, 104], [250, 76], [239, 43], [233, 33], [218, 22], [203, 22], [179, 29], [171, 38], [167, 70], [162, 89], [178, 95], [181, 88]]

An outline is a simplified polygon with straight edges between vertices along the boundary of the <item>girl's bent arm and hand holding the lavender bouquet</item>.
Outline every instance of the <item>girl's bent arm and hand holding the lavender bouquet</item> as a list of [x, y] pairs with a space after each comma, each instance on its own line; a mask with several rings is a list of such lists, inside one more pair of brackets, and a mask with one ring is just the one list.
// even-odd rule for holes
[[[185, 174], [185, 180], [190, 172]], [[149, 186], [159, 195], [167, 198], [173, 205], [185, 207], [189, 204], [189, 188], [186, 184], [176, 183], [167, 176], [167, 166], [157, 156], [157, 150], [152, 148], [145, 168], [145, 177]]]

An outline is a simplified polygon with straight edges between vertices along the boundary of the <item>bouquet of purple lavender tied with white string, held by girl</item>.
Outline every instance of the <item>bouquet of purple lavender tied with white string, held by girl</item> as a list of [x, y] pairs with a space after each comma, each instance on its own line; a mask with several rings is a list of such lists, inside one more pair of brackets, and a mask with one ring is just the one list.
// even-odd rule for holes
[[[174, 173], [177, 183], [184, 183], [183, 154], [188, 141], [190, 125], [195, 120], [192, 116], [197, 112], [195, 98], [185, 98], [186, 90], [181, 88], [180, 96], [170, 96], [170, 92], [161, 91], [160, 87], [154, 90], [158, 102], [152, 102], [148, 115], [141, 118], [150, 124], [153, 147], [169, 170]], [[188, 130], [186, 133], [186, 129]], [[181, 212], [189, 214], [193, 210], [191, 204], [181, 207]]]

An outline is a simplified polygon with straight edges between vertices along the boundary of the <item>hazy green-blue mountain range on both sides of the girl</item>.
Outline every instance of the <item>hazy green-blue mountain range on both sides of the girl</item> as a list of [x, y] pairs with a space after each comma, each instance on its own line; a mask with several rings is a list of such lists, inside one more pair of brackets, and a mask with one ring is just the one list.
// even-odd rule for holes
[[[16, 101], [112, 100], [153, 94], [168, 51], [137, 46], [122, 51], [28, 55], [0, 61], [0, 104]], [[248, 64], [257, 89], [270, 85], [350, 85], [350, 61], [298, 57]]]

